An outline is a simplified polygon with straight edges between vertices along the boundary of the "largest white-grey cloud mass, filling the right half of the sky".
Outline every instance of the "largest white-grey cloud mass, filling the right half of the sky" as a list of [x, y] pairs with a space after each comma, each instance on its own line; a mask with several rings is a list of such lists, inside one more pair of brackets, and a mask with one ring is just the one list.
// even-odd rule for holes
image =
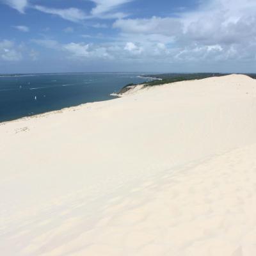
[[256, 50], [256, 2], [210, 0], [176, 17], [119, 19], [113, 28], [121, 40], [136, 38], [132, 44], [143, 45], [148, 56], [162, 52], [172, 61], [249, 60], [246, 52]]

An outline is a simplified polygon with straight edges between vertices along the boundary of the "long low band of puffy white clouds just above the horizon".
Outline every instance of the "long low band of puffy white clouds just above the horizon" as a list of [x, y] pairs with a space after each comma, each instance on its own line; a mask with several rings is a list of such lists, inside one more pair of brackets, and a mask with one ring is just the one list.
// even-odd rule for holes
[[[168, 47], [161, 42], [144, 42], [143, 47], [137, 42], [109, 42], [103, 44], [88, 44], [84, 42], [70, 42], [61, 44], [54, 40], [34, 40], [37, 44], [58, 51], [61, 58], [81, 61], [88, 63], [93, 60], [111, 60], [111, 63], [129, 63], [129, 65], [140, 65], [152, 63], [159, 67], [165, 64], [175, 65], [203, 65], [207, 63], [237, 60], [250, 60], [250, 52], [256, 52], [256, 47], [252, 47], [250, 52], [241, 51], [238, 46], [221, 46], [221, 45], [186, 45]], [[253, 56], [255, 58], [255, 56]], [[206, 64], [205, 64], [206, 63]], [[205, 65], [204, 65], [205, 64]], [[133, 67], [133, 66], [132, 66]], [[193, 66], [194, 67], [194, 66]], [[217, 66], [216, 66], [217, 67]]]

